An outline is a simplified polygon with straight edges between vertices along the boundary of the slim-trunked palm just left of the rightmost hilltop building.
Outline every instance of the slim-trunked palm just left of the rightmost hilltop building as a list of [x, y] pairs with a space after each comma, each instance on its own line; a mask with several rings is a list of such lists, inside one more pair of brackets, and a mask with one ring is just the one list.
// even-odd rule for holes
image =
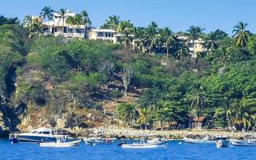
[[160, 35], [162, 37], [163, 44], [166, 48], [166, 55], [167, 55], [167, 58], [168, 58], [170, 47], [176, 48], [176, 43], [177, 43], [178, 39], [172, 33], [172, 31], [167, 27], [164, 28], [163, 30], [161, 30]]

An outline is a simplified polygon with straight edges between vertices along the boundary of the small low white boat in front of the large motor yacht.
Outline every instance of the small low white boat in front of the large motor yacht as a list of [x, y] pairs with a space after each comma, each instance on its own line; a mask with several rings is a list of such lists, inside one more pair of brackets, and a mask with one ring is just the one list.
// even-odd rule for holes
[[65, 142], [60, 139], [57, 139], [56, 142], [41, 142], [39, 143], [40, 146], [49, 146], [49, 147], [70, 147], [70, 146], [78, 146], [81, 140]]

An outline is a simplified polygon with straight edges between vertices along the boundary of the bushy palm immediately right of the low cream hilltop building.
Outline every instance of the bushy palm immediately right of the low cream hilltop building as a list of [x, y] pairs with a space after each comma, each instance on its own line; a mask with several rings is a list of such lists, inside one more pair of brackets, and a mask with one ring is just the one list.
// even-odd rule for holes
[[118, 33], [122, 34], [122, 42], [124, 46], [128, 46], [132, 41], [132, 35], [134, 34], [134, 25], [128, 21], [122, 21], [118, 26]]

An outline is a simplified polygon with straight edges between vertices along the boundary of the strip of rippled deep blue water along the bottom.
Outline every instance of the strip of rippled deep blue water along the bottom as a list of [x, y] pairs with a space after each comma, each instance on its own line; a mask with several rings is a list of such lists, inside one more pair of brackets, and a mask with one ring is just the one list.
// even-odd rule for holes
[[82, 142], [76, 147], [48, 148], [35, 143], [10, 144], [2, 139], [0, 159], [256, 159], [255, 146], [216, 148], [215, 144], [179, 144], [179, 141], [171, 141], [166, 149], [122, 149], [117, 146], [119, 142], [98, 146], [86, 146]]

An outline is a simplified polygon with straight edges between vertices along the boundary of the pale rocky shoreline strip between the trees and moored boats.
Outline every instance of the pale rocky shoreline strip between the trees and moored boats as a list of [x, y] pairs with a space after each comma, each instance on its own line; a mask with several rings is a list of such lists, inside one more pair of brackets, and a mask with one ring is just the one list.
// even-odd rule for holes
[[[91, 128], [87, 130], [67, 130], [73, 131], [76, 137], [86, 137], [88, 134], [102, 134], [106, 138], [128, 138], [136, 139], [141, 137], [162, 137], [172, 140], [183, 138], [205, 138], [208, 135], [211, 138], [225, 136], [228, 138], [242, 138], [251, 134], [242, 132], [230, 132], [225, 130], [135, 130], [132, 128], [118, 128], [115, 126]], [[253, 134], [256, 137], [256, 134]]]

